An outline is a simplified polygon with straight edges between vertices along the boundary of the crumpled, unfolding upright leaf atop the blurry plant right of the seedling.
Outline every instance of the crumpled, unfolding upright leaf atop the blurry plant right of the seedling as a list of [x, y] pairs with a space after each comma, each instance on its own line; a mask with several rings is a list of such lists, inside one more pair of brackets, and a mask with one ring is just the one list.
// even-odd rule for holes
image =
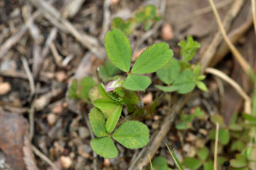
[[181, 47], [181, 56], [184, 61], [190, 61], [193, 59], [195, 52], [200, 48], [200, 44], [195, 42], [192, 36], [187, 36], [186, 41], [178, 43]]

